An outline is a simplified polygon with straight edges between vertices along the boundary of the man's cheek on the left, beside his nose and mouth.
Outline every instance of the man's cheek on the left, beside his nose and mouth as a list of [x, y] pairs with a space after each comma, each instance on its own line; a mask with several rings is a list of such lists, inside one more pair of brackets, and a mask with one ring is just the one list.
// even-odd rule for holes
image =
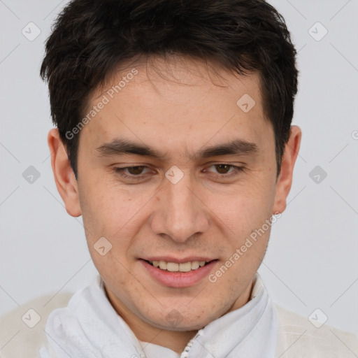
[[[92, 187], [94, 189], [92, 189]], [[148, 199], [143, 195], [133, 195], [126, 190], [116, 187], [88, 185], [81, 187], [80, 203], [83, 208], [83, 224], [90, 255], [96, 268], [103, 275], [110, 276], [117, 267], [120, 271], [131, 261], [130, 248], [134, 245], [138, 231], [143, 226], [143, 213], [141, 210]], [[99, 240], [106, 240], [99, 245]], [[107, 242], [108, 241], [108, 242]], [[110, 248], [105, 255], [96, 250]], [[121, 264], [127, 262], [122, 266]], [[117, 280], [121, 281], [119, 275]], [[117, 282], [124, 285], [125, 282]]]

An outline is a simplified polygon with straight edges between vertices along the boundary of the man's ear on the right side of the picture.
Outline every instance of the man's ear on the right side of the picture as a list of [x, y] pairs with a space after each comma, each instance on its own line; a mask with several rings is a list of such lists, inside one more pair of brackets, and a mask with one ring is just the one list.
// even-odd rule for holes
[[289, 140], [285, 145], [285, 151], [282, 156], [280, 176], [276, 183], [275, 203], [273, 204], [273, 214], [283, 213], [286, 208], [286, 199], [292, 185], [292, 175], [294, 172], [294, 163], [299, 155], [301, 144], [301, 129], [297, 126], [291, 127]]

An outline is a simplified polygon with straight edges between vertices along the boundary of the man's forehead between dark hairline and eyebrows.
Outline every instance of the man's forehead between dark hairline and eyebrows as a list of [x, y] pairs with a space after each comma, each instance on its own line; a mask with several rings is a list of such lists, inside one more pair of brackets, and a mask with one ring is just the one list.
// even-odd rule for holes
[[188, 152], [209, 141], [259, 143], [268, 131], [273, 140], [259, 74], [238, 76], [200, 60], [153, 59], [121, 69], [92, 94], [87, 113], [94, 107], [80, 140], [93, 145], [121, 136]]

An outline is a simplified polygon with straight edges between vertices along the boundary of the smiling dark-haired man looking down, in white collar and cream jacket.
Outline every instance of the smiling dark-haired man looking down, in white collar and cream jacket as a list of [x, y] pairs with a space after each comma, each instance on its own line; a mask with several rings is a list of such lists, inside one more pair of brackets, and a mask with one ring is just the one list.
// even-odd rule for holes
[[48, 143], [99, 277], [1, 357], [357, 356], [257, 274], [301, 141], [295, 56], [262, 0], [64, 8], [41, 67]]

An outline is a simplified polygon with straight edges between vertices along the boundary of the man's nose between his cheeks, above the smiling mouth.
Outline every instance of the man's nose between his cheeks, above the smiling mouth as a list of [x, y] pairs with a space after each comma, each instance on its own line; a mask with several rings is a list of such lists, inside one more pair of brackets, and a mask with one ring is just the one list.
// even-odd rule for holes
[[200, 199], [189, 174], [173, 184], [164, 180], [164, 187], [157, 193], [157, 206], [151, 215], [155, 234], [170, 236], [173, 241], [184, 243], [192, 236], [205, 232], [209, 227], [208, 207]]

